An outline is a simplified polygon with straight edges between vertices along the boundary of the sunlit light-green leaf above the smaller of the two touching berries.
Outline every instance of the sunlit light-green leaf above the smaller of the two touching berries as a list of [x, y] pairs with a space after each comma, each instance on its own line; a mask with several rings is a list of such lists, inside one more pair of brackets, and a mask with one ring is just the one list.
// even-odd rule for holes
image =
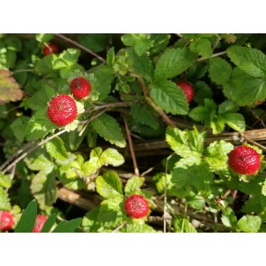
[[52, 69], [63, 69], [77, 63], [80, 50], [69, 48], [60, 53], [57, 60], [54, 61]]

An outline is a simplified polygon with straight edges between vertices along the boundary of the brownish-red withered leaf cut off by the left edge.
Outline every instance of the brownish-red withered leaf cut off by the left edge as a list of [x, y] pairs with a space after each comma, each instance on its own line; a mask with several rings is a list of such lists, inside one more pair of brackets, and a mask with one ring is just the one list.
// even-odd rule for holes
[[0, 105], [20, 101], [23, 98], [23, 90], [12, 77], [12, 72], [0, 69]]

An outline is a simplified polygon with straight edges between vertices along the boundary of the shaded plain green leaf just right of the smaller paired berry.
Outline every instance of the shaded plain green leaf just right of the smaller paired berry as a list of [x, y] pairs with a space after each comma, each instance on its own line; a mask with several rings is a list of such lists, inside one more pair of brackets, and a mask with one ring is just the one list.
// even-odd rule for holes
[[101, 66], [94, 71], [96, 82], [94, 87], [99, 93], [98, 99], [103, 100], [111, 91], [111, 83], [114, 79], [114, 71], [110, 67]]

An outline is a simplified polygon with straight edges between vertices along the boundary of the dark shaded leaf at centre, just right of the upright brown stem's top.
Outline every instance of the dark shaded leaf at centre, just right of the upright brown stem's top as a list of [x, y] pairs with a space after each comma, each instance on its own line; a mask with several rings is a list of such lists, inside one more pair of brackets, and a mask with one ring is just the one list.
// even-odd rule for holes
[[160, 124], [151, 112], [150, 105], [133, 104], [130, 109], [130, 115], [133, 116], [135, 122], [151, 126], [156, 130]]

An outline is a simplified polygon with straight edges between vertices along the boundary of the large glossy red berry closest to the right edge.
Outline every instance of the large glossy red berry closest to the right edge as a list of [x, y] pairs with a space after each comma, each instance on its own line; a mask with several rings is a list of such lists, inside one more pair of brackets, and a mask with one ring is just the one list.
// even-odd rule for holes
[[253, 175], [260, 169], [260, 154], [251, 147], [240, 145], [229, 153], [228, 164], [238, 174]]

